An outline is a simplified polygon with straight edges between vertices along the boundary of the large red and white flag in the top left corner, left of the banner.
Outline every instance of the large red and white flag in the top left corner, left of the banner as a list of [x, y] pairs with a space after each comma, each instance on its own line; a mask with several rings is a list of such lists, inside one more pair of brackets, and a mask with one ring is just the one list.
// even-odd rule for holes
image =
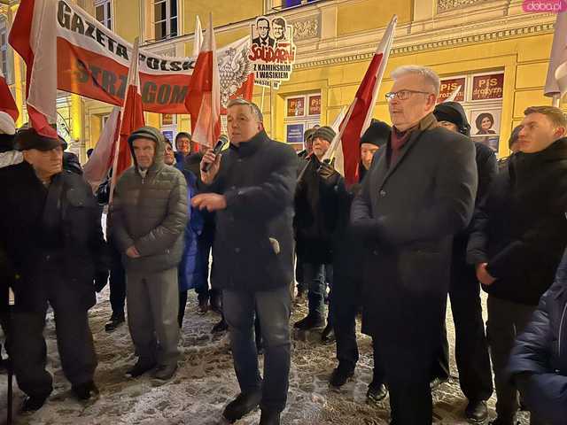
[[26, 62], [26, 103], [31, 125], [57, 138], [57, 1], [21, 0], [9, 42]]

